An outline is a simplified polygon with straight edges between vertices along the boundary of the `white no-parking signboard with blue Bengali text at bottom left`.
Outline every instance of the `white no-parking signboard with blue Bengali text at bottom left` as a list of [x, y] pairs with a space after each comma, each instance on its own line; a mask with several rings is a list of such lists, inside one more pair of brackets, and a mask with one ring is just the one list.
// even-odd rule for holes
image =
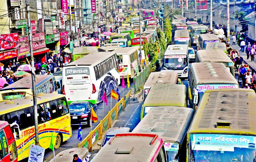
[[44, 161], [44, 148], [37, 145], [30, 145], [28, 162], [43, 162]]

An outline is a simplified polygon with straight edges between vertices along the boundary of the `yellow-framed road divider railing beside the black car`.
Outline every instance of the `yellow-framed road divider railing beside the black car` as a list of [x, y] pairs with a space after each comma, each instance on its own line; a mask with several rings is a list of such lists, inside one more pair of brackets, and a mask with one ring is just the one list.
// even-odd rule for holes
[[105, 131], [111, 127], [111, 122], [113, 123], [115, 119], [118, 118], [118, 114], [125, 109], [125, 106], [130, 101], [131, 90], [125, 95], [125, 98], [122, 97], [120, 101], [118, 101], [115, 106], [109, 111], [108, 114], [100, 121], [100, 123], [89, 132], [88, 136], [78, 144], [78, 147], [85, 147], [89, 151], [91, 151], [91, 147], [93, 147], [98, 140], [102, 138], [102, 135]]

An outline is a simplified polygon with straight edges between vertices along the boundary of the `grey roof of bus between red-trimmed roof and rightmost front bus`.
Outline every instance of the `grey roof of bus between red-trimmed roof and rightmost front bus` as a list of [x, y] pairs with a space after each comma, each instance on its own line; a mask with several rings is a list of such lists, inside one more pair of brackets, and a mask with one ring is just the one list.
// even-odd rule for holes
[[194, 110], [191, 108], [153, 107], [132, 132], [156, 133], [164, 142], [178, 142], [181, 144], [193, 115]]

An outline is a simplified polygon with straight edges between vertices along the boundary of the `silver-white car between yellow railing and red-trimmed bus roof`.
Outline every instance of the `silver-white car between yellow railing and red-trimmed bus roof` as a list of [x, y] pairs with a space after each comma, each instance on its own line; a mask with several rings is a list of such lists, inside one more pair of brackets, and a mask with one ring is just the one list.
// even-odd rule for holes
[[100, 145], [100, 149], [116, 134], [119, 133], [126, 133], [126, 132], [131, 132], [131, 129], [129, 127], [115, 127], [115, 128], [109, 128], [105, 136], [102, 140], [102, 143], [98, 143], [97, 145]]

